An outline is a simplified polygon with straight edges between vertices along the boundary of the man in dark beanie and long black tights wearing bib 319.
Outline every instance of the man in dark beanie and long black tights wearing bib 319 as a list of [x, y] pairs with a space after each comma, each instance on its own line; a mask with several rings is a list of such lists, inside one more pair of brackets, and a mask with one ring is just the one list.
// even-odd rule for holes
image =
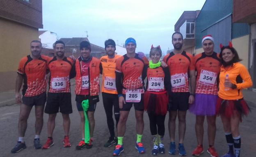
[[110, 132], [108, 141], [104, 144], [104, 147], [110, 147], [117, 143], [117, 137], [114, 132], [114, 120], [113, 120], [113, 107], [114, 107], [114, 118], [116, 119], [116, 127], [119, 121], [119, 102], [116, 88], [116, 60], [121, 55], [116, 55], [116, 43], [112, 39], [105, 41], [105, 56], [101, 57], [100, 69], [102, 74], [102, 100], [105, 113], [107, 116], [107, 126]]

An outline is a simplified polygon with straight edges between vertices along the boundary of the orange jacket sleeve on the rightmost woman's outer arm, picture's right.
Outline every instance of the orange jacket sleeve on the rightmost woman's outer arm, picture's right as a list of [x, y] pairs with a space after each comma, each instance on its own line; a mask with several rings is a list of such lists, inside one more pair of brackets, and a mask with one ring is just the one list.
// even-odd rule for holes
[[245, 66], [240, 67], [239, 75], [242, 77], [243, 82], [235, 84], [237, 89], [244, 89], [252, 86], [251, 76]]

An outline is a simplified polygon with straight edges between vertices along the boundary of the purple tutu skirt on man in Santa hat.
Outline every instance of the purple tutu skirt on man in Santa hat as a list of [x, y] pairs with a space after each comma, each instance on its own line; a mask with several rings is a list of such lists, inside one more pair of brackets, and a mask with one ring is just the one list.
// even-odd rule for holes
[[190, 105], [189, 110], [195, 115], [213, 116], [216, 114], [216, 102], [218, 95], [196, 94], [195, 101]]

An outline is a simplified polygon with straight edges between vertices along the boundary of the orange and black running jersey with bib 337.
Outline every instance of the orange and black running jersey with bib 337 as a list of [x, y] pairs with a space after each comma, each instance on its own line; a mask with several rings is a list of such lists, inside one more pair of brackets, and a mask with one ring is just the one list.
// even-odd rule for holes
[[172, 92], [189, 92], [188, 75], [195, 70], [194, 57], [185, 51], [180, 54], [173, 52], [165, 55], [163, 61], [167, 63], [171, 75]]

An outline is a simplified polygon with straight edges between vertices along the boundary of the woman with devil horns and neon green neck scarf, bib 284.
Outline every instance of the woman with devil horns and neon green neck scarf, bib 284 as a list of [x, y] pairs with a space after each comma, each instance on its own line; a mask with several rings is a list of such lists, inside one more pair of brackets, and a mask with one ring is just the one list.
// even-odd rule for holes
[[146, 70], [146, 92], [144, 93], [144, 110], [148, 112], [150, 131], [153, 139], [152, 155], [165, 153], [163, 138], [165, 135], [165, 115], [168, 109], [168, 95], [171, 93], [171, 79], [167, 65], [162, 65], [160, 46], [149, 52], [149, 67]]

